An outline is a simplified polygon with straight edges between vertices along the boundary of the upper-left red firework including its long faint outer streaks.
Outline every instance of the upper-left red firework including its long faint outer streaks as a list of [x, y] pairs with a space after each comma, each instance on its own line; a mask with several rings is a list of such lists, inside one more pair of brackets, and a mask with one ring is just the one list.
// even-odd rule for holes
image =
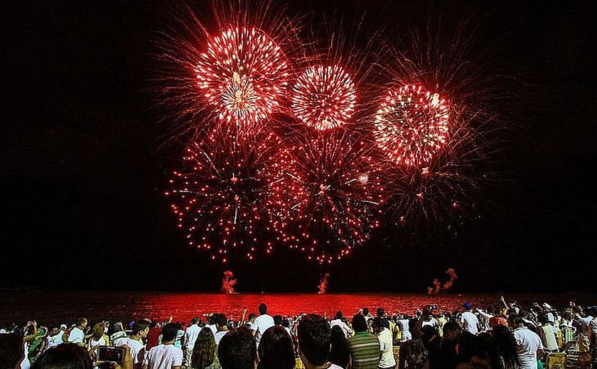
[[267, 0], [206, 4], [174, 9], [156, 40], [158, 103], [173, 136], [222, 122], [254, 129], [286, 99], [298, 21]]

